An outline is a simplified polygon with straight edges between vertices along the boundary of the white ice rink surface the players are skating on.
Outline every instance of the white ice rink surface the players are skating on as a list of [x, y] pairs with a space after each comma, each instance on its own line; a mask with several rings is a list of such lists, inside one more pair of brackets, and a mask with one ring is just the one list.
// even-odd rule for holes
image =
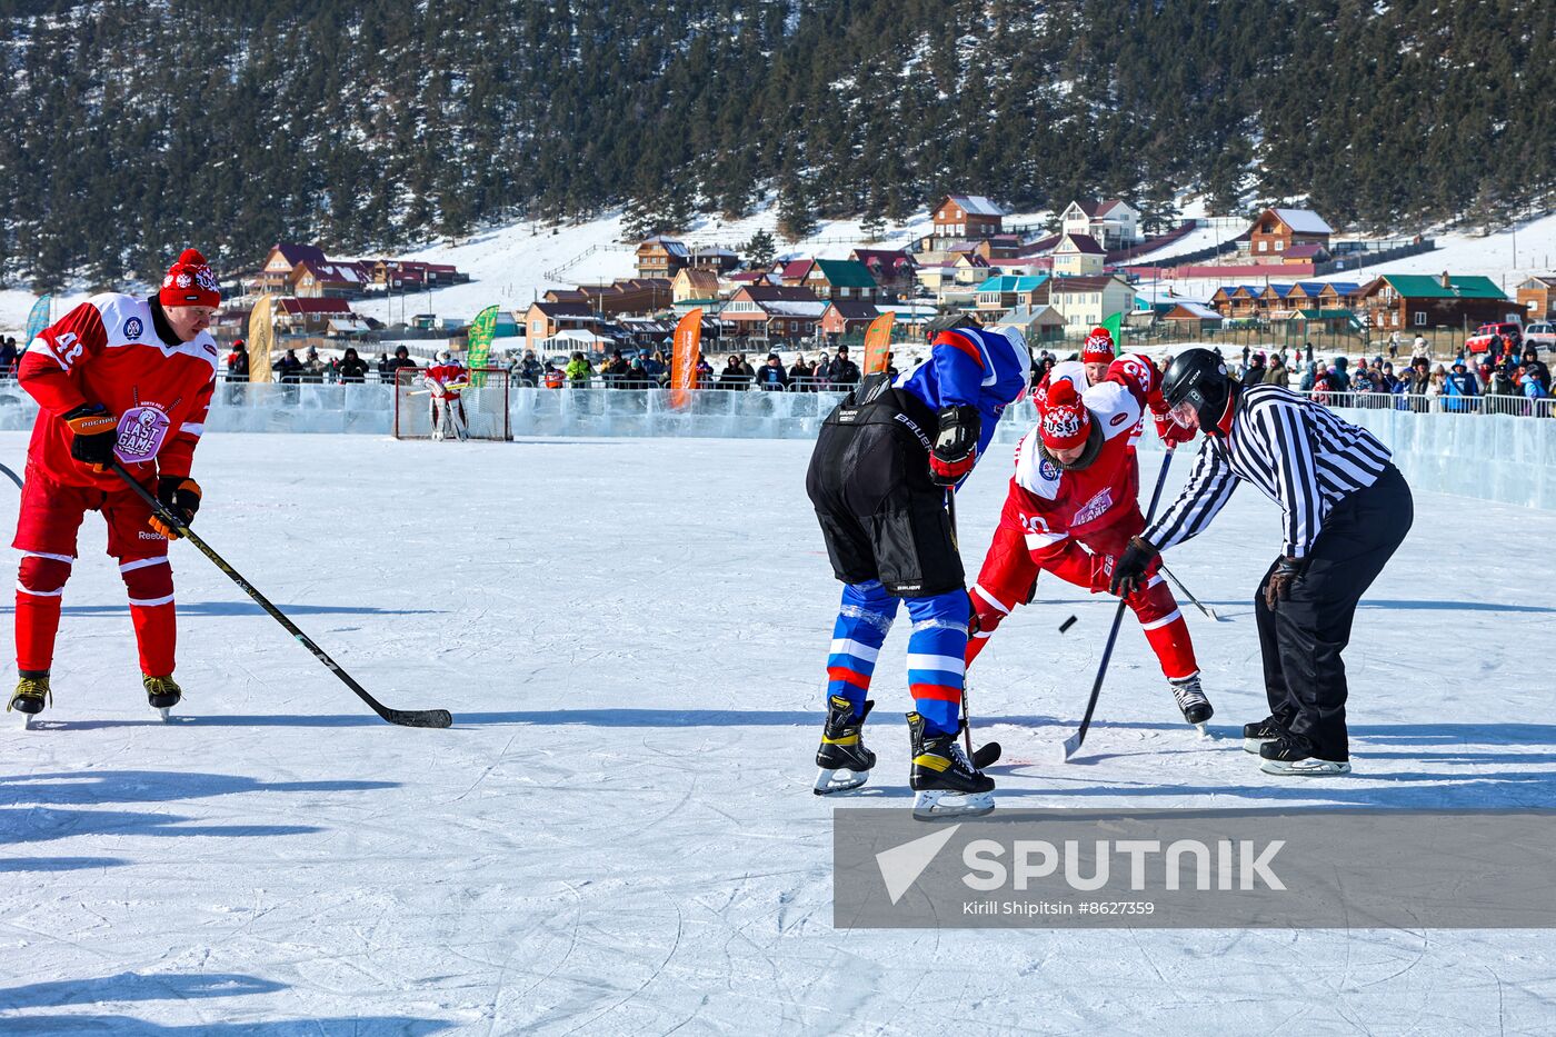
[[[216, 548], [375, 693], [450, 707], [447, 732], [381, 724], [185, 547], [188, 701], [154, 722], [89, 517], [50, 724], [0, 729], [0, 1032], [1548, 1032], [1556, 951], [1519, 931], [836, 931], [809, 783], [837, 584], [806, 459], [210, 438]], [[1004, 475], [963, 495], [974, 556]], [[1265, 712], [1248, 596], [1279, 518], [1256, 494], [1175, 559], [1231, 618], [1190, 617], [1220, 741], [1127, 627], [1095, 755], [1057, 763], [1113, 609], [1044, 581], [972, 677], [1002, 805], [1548, 803], [1548, 578], [1466, 554], [1488, 523], [1556, 536], [1419, 494], [1358, 613], [1349, 779], [1282, 783], [1228, 738]], [[899, 626], [856, 802], [907, 802]]]

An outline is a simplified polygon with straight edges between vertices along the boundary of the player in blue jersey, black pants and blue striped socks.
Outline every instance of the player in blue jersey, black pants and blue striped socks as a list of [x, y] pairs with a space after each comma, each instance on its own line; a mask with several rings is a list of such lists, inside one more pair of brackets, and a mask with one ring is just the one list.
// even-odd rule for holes
[[994, 780], [957, 744], [968, 596], [946, 492], [994, 438], [1027, 389], [1032, 358], [1019, 332], [962, 318], [930, 338], [929, 358], [896, 380], [870, 375], [822, 425], [806, 490], [843, 587], [826, 660], [828, 716], [817, 794], [857, 788], [874, 754], [860, 730], [876, 656], [901, 599], [913, 620], [907, 682], [915, 710], [909, 785], [913, 813], [988, 813]]

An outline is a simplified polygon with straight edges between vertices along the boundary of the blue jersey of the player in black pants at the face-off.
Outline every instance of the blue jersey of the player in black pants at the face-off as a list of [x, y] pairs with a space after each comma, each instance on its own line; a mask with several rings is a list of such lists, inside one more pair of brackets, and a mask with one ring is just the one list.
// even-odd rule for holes
[[912, 392], [929, 410], [941, 406], [976, 406], [982, 425], [977, 453], [988, 453], [1001, 414], [1027, 391], [1032, 375], [1032, 352], [1016, 329], [988, 332], [958, 327], [943, 332], [923, 361], [896, 377], [896, 388]]

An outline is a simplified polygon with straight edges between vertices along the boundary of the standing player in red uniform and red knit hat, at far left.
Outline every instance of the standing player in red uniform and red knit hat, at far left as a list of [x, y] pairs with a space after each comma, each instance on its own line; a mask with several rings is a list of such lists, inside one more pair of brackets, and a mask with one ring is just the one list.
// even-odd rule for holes
[[184, 249], [146, 299], [92, 296], [28, 343], [19, 380], [39, 405], [17, 515], [16, 663], [8, 708], [36, 715], [53, 701], [48, 677], [59, 606], [89, 511], [107, 522], [107, 553], [129, 592], [149, 704], [177, 705], [176, 618], [168, 540], [174, 528], [109, 467], [118, 459], [185, 525], [201, 487], [190, 478], [219, 355], [205, 332], [221, 305], [205, 258]]

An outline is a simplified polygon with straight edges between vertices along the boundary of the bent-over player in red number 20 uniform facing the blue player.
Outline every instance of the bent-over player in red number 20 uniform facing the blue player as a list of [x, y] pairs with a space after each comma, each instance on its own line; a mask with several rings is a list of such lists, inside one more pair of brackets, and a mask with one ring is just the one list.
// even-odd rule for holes
[[[1167, 448], [1193, 434], [1167, 419], [1159, 375], [1147, 357], [1120, 357], [1085, 392], [1078, 366], [1053, 367], [1038, 424], [1016, 448], [1016, 473], [994, 540], [968, 592], [974, 631], [969, 665], [999, 623], [1032, 599], [1039, 571], [1092, 593], [1108, 592], [1114, 557], [1145, 528], [1139, 461], [1130, 445], [1142, 413], [1150, 408], [1159, 416]], [[1141, 621], [1184, 719], [1197, 726], [1211, 719], [1189, 624], [1162, 576], [1151, 570], [1125, 603]]]

